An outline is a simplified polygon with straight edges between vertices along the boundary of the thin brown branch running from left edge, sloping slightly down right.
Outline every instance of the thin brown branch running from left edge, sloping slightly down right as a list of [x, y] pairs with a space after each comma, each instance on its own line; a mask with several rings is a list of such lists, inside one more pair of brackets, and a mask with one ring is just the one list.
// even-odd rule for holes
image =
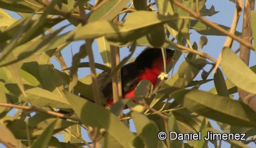
[[57, 117], [64, 118], [64, 119], [74, 120], [74, 121], [78, 122], [78, 124], [82, 124], [82, 121], [79, 118], [75, 118], [72, 116], [68, 116], [66, 114], [61, 114], [61, 113], [50, 111], [50, 110], [45, 110], [42, 108], [38, 108], [36, 106], [20, 106], [20, 105], [15, 105], [15, 104], [10, 104], [10, 103], [0, 103], [0, 106], [11, 107], [11, 108], [20, 108], [20, 109], [34, 111], [34, 112], [45, 112], [45, 113], [51, 114], [53, 116], [57, 116]]

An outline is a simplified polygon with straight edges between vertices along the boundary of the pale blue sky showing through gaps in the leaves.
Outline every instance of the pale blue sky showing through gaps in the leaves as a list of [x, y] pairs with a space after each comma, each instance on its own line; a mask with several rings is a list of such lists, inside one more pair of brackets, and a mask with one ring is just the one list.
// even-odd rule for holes
[[[92, 4], [94, 4], [94, 1], [90, 1]], [[206, 2], [206, 8], [210, 8], [211, 6], [215, 7], [216, 11], [220, 11], [217, 14], [215, 14], [214, 16], [211, 17], [206, 17], [207, 19], [225, 25], [225, 26], [230, 26], [232, 23], [232, 19], [233, 19], [233, 15], [234, 15], [234, 10], [235, 10], [235, 4], [230, 2], [229, 0], [208, 0]], [[243, 14], [241, 14], [242, 16]], [[14, 16], [15, 18], [18, 18], [17, 15], [12, 13], [12, 16]], [[54, 26], [54, 29], [59, 28], [60, 26], [64, 26], [65, 24], [67, 24], [68, 21], [64, 21], [56, 26]], [[67, 29], [64, 30], [64, 32], [67, 32], [68, 30], [72, 30], [74, 29], [74, 26], [70, 26]], [[238, 27], [237, 27], [237, 31], [242, 31], [242, 17], [240, 17], [240, 20], [238, 22]], [[200, 34], [198, 34], [196, 31], [194, 30], [190, 30], [190, 41], [191, 43], [193, 42], [197, 42], [199, 43], [199, 38], [200, 38]], [[208, 44], [206, 46], [204, 46], [203, 51], [210, 54], [212, 57], [214, 57], [215, 59], [218, 58], [219, 53], [222, 50], [223, 44], [226, 40], [226, 36], [207, 36], [208, 38]], [[84, 44], [84, 41], [77, 41], [77, 42], [72, 42], [72, 44], [70, 44], [69, 46], [67, 46], [64, 50], [62, 50], [62, 55], [64, 56], [64, 60], [66, 61], [68, 67], [71, 66], [71, 62], [72, 62], [72, 53], [73, 55], [75, 53], [78, 52], [80, 45]], [[234, 45], [232, 47], [233, 50], [236, 50], [239, 47], [239, 44], [235, 41]], [[138, 54], [144, 49], [144, 47], [137, 47], [136, 48], [136, 52], [134, 54], [134, 57], [138, 56]], [[72, 52], [71, 52], [72, 50]], [[102, 63], [102, 59], [100, 57], [100, 54], [98, 52], [98, 47], [97, 47], [97, 42], [96, 40], [93, 43], [93, 50], [94, 50], [94, 58], [95, 58], [95, 62], [97, 63]], [[120, 49], [120, 56], [121, 59], [124, 58], [126, 55], [128, 54], [128, 48], [124, 47]], [[182, 55], [180, 60], [178, 61], [178, 63], [176, 64], [175, 68], [174, 68], [174, 72], [177, 71], [179, 64], [184, 60], [184, 56], [186, 56], [186, 54]], [[256, 64], [256, 60], [255, 60], [255, 54], [253, 52], [251, 52], [251, 58], [253, 60], [250, 60], [250, 66], [253, 66]], [[82, 60], [82, 62], [88, 61], [88, 58], [85, 58]], [[52, 59], [51, 62], [54, 64], [55, 68], [60, 69], [60, 64], [58, 64], [58, 62], [56, 62], [55, 59]], [[204, 68], [205, 70], [210, 69], [210, 67], [206, 67]], [[98, 72], [100, 72], [99, 70], [97, 70]], [[78, 76], [79, 78], [82, 78], [84, 76], [87, 76], [88, 74], [90, 74], [90, 70], [89, 68], [80, 68], [78, 70]], [[171, 76], [171, 73], [169, 74], [169, 76]], [[210, 75], [210, 77], [212, 77], [212, 75]], [[200, 77], [197, 77], [198, 79]], [[209, 84], [204, 84], [200, 87], [200, 89], [202, 90], [209, 90], [210, 88], [212, 88], [214, 86], [213, 82], [209, 83]], [[236, 95], [236, 97], [238, 97]], [[214, 124], [214, 122], [212, 122]], [[135, 131], [135, 128], [133, 126], [133, 124], [130, 125], [131, 126], [131, 130]], [[216, 127], [216, 124], [214, 124], [214, 127]], [[218, 128], [217, 128], [218, 129]], [[82, 130], [82, 136], [88, 140], [88, 136], [86, 134], [85, 130]], [[63, 140], [63, 136], [58, 135], [57, 136], [59, 138], [60, 141]], [[226, 147], [228, 146], [228, 144], [226, 142], [222, 143], [222, 147]], [[251, 145], [251, 144], [250, 144]], [[254, 144], [252, 144], [251, 146], [255, 146]], [[1, 145], [0, 145], [1, 147]], [[209, 147], [213, 147], [212, 144], [209, 144]]]

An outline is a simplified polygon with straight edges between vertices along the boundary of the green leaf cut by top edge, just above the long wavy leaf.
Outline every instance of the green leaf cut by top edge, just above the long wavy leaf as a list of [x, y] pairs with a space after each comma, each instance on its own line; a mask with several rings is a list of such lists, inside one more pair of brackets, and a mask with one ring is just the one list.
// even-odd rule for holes
[[112, 20], [130, 2], [130, 0], [110, 0], [93, 12], [88, 22], [96, 20]]

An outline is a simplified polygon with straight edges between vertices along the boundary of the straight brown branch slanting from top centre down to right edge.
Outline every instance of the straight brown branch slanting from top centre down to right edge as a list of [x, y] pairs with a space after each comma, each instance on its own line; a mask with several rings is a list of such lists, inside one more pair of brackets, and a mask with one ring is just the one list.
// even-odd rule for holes
[[170, 2], [173, 2], [173, 4], [177, 5], [178, 7], [182, 8], [183, 10], [185, 10], [186, 12], [188, 12], [189, 14], [191, 14], [194, 18], [197, 18], [201, 21], [203, 21], [205, 24], [211, 26], [212, 28], [218, 30], [219, 32], [225, 34], [226, 36], [230, 36], [231, 38], [233, 38], [234, 40], [236, 40], [237, 42], [239, 42], [240, 44], [243, 44], [244, 46], [246, 46], [247, 48], [250, 49], [254, 49], [254, 47], [252, 46], [252, 44], [250, 44], [249, 42], [247, 42], [246, 40], [230, 33], [229, 31], [221, 28], [220, 26], [214, 24], [213, 22], [207, 20], [206, 18], [204, 18], [203, 16], [201, 16], [200, 14], [197, 14], [196, 12], [194, 12], [193, 10], [190, 10], [189, 8], [187, 8], [186, 6], [184, 6], [182, 3], [178, 2], [177, 0], [170, 0]]

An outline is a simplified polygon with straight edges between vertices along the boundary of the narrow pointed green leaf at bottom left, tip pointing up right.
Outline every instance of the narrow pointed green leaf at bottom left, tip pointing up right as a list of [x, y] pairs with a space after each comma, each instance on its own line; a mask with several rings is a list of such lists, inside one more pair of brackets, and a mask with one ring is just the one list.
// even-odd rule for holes
[[54, 120], [45, 130], [44, 132], [36, 139], [35, 142], [33, 142], [31, 148], [45, 148], [48, 143], [50, 142], [50, 139], [52, 137], [54, 126], [56, 124], [57, 120]]

